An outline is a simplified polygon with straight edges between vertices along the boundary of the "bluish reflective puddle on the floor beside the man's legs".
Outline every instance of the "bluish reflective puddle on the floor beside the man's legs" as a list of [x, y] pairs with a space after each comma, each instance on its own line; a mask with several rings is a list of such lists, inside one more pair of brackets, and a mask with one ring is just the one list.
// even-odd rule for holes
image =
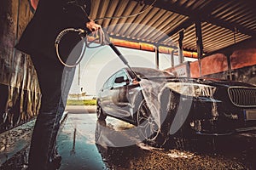
[[107, 168], [94, 142], [96, 118], [88, 116], [68, 115], [61, 127], [57, 139], [57, 150], [62, 156], [61, 170]]

